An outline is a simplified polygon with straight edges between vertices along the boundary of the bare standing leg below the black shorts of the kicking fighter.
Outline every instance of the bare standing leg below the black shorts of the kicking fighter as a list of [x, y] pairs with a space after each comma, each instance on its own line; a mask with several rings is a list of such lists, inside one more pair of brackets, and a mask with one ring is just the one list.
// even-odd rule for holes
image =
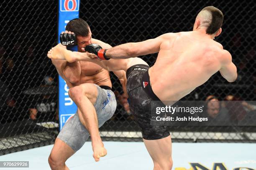
[[154, 170], [172, 169], [171, 135], [159, 140], [145, 140], [144, 144], [154, 162]]

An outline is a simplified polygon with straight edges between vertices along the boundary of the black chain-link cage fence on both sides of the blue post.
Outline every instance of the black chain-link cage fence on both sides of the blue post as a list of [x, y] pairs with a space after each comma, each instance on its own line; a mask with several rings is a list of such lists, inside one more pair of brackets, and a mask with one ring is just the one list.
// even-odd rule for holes
[[[182, 100], [256, 100], [256, 4], [253, 1], [100, 1], [81, 0], [80, 18], [92, 37], [116, 46], [168, 32], [192, 30], [197, 13], [213, 5], [223, 11], [223, 33], [217, 37], [230, 51], [238, 80], [227, 83], [219, 73]], [[57, 72], [47, 58], [56, 44], [57, 1], [4, 0], [0, 33], [0, 155], [52, 144], [58, 134]], [[157, 54], [142, 56], [150, 66]], [[141, 141], [122, 88], [111, 74], [118, 107], [101, 128], [105, 140]], [[227, 96], [230, 95], [230, 96]], [[170, 127], [174, 141], [255, 142], [256, 128]]]

